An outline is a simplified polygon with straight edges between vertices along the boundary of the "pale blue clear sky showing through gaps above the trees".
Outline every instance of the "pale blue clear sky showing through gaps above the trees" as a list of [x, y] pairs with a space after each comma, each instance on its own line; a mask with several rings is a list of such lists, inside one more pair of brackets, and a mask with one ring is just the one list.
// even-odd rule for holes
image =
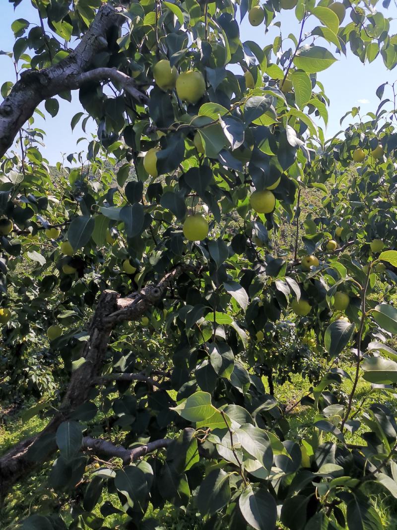
[[[379, 3], [381, 6], [381, 2]], [[387, 17], [397, 17], [397, 8], [390, 4], [389, 10], [380, 10]], [[346, 15], [345, 24], [347, 23]], [[31, 6], [30, 2], [24, 0], [15, 12], [12, 4], [2, 0], [2, 31], [0, 33], [0, 50], [11, 51], [14, 44], [14, 36], [11, 30], [12, 22], [17, 18], [24, 18], [30, 22], [38, 23], [37, 12]], [[287, 37], [289, 33], [295, 35], [299, 34], [299, 23], [295, 19], [295, 15], [289, 11], [282, 11], [278, 16], [278, 20], [282, 22], [283, 38]], [[310, 20], [310, 19], [309, 19]], [[313, 28], [313, 24], [308, 24], [308, 29]], [[391, 21], [390, 33], [397, 32], [396, 21]], [[278, 34], [277, 28], [270, 28], [265, 34], [264, 25], [252, 27], [248, 22], [248, 17], [245, 17], [240, 28], [241, 41], [254, 40], [261, 47], [273, 43], [274, 38]], [[322, 39], [318, 40], [318, 44], [325, 45]], [[289, 41], [291, 42], [291, 41]], [[306, 41], [310, 43], [309, 39]], [[288, 41], [286, 42], [286, 47]], [[335, 52], [335, 47], [330, 48], [332, 53]], [[330, 98], [329, 108], [329, 123], [326, 131], [326, 137], [332, 137], [339, 130], [340, 118], [354, 106], [360, 106], [362, 113], [368, 111], [376, 111], [379, 100], [375, 95], [377, 87], [386, 81], [393, 83], [397, 79], [397, 69], [387, 70], [383, 64], [382, 58], [379, 55], [371, 64], [363, 65], [360, 63], [358, 57], [354, 56], [350, 50], [347, 52], [347, 57], [336, 55], [339, 60], [330, 68], [318, 74], [318, 79], [324, 84], [326, 93]], [[0, 85], [5, 81], [14, 81], [15, 72], [12, 61], [5, 55], [0, 55]], [[386, 96], [386, 93], [385, 93]], [[80, 142], [76, 146], [78, 138], [85, 136], [80, 125], [77, 125], [74, 133], [70, 129], [70, 120], [76, 112], [82, 110], [78, 101], [78, 92], [72, 92], [72, 102], [69, 103], [59, 99], [59, 112], [55, 118], [51, 118], [47, 113], [47, 120], [44, 122], [37, 114], [35, 114], [35, 126], [40, 127], [46, 131], [46, 148], [43, 149], [43, 155], [46, 156], [51, 164], [55, 164], [61, 160], [61, 153], [72, 153], [82, 151], [87, 142]], [[0, 96], [1, 99], [1, 96]], [[40, 108], [43, 108], [41, 105]], [[343, 122], [343, 128], [347, 127], [349, 118]], [[321, 123], [323, 126], [323, 124]], [[87, 130], [94, 131], [94, 126], [88, 127]]]

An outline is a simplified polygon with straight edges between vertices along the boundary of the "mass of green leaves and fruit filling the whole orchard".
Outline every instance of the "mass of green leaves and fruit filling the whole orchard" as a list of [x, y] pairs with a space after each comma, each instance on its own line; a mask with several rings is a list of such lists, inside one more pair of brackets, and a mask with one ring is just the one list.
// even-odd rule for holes
[[[353, 109], [358, 122], [326, 142], [317, 80], [338, 54], [395, 66], [375, 4], [32, 0], [37, 20], [12, 24], [16, 72], [45, 74], [67, 67], [98, 10], [119, 13], [91, 60], [107, 70], [80, 86], [71, 119], [83, 133], [97, 124], [87, 149], [55, 175], [31, 117], [1, 165], [0, 395], [33, 396], [25, 418], [52, 418], [29, 465], [56, 458], [25, 530], [108, 528], [111, 515], [156, 528], [164, 506], [204, 528], [382, 528], [368, 484], [397, 498], [395, 89], [380, 86], [376, 114]], [[286, 37], [291, 8], [299, 29]], [[240, 40], [248, 12], [280, 30], [263, 49]], [[16, 87], [3, 84], [5, 102]], [[46, 117], [58, 107], [47, 99]], [[303, 218], [309, 189], [321, 207]], [[130, 322], [112, 321], [88, 398], [65, 408], [104, 290], [131, 304]], [[293, 373], [309, 392], [278, 402], [274, 383]], [[313, 418], [298, 434], [297, 404]]]

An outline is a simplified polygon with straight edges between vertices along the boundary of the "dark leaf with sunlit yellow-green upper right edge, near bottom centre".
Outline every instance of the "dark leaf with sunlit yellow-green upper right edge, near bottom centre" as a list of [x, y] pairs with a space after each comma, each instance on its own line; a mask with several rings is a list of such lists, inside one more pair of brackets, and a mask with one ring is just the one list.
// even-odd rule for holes
[[205, 477], [197, 494], [197, 507], [202, 515], [213, 515], [230, 501], [229, 473], [215, 469]]

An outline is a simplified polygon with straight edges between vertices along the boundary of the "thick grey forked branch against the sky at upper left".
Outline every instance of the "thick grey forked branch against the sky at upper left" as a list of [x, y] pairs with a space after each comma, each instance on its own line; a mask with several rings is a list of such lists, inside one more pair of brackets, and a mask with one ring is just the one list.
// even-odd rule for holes
[[[42, 101], [67, 90], [76, 90], [87, 81], [118, 83], [140, 103], [147, 101], [133, 87], [133, 81], [115, 68], [92, 69], [93, 57], [107, 49], [107, 35], [125, 19], [110, 4], [103, 4], [78, 46], [58, 64], [42, 70], [26, 70], [0, 105], [0, 157], [14, 142], [19, 129]], [[91, 70], [89, 72], [89, 70]], [[85, 74], [91, 75], [85, 75]]]

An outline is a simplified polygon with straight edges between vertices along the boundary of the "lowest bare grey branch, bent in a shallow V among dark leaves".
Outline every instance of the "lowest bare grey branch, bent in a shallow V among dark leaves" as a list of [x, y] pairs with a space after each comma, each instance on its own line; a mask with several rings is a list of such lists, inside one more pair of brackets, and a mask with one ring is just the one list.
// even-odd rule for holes
[[170, 438], [161, 438], [159, 440], [151, 441], [146, 445], [134, 447], [133, 449], [125, 449], [125, 447], [114, 445], [111, 441], [103, 440], [101, 438], [92, 438], [85, 436], [83, 438], [83, 449], [89, 449], [93, 453], [103, 454], [107, 457], [118, 457], [123, 461], [123, 465], [128, 465], [131, 462], [138, 460], [141, 456], [147, 453], [152, 453], [156, 449], [168, 447], [172, 443]]

